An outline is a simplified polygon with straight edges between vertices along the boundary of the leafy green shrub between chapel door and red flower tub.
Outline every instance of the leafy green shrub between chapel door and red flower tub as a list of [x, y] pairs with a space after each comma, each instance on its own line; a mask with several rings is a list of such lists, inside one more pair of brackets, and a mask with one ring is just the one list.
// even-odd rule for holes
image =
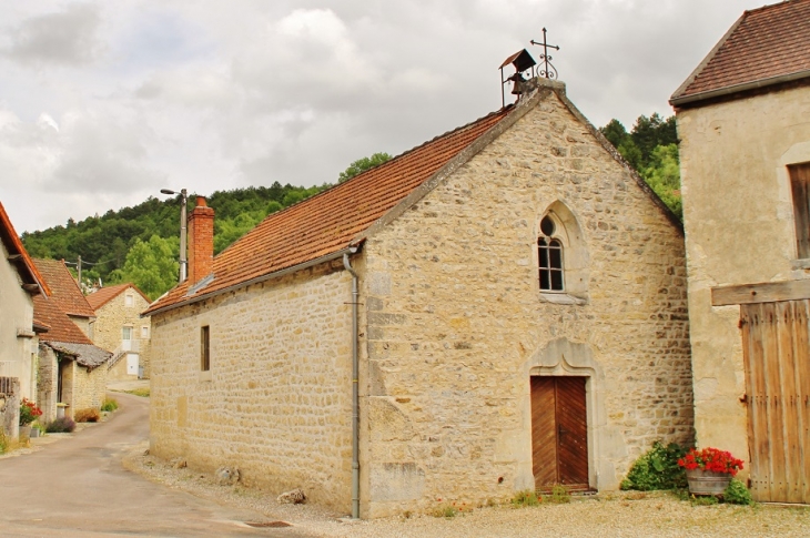
[[686, 487], [686, 471], [678, 465], [686, 449], [675, 443], [664, 446], [655, 441], [652, 448], [642, 454], [630, 467], [621, 489], [677, 489]]

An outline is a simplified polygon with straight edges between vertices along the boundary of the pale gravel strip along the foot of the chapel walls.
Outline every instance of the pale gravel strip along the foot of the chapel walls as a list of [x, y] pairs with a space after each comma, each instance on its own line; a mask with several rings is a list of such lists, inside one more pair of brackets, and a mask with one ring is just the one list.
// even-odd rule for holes
[[415, 516], [342, 522], [338, 520], [342, 514], [317, 506], [280, 505], [274, 495], [239, 485], [217, 486], [210, 475], [176, 469], [171, 463], [144, 455], [145, 448], [144, 444], [133, 449], [124, 458], [124, 466], [168, 487], [220, 504], [251, 508], [264, 514], [267, 520], [287, 521], [322, 537], [810, 536], [810, 507], [692, 506], [660, 491], [574, 497], [570, 504], [531, 508], [477, 508], [454, 518]]

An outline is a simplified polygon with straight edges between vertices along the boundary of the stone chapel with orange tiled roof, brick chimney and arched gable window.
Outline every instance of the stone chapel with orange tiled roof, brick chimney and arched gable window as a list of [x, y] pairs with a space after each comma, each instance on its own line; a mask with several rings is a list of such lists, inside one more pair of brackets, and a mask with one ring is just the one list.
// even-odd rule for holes
[[373, 518], [617, 489], [691, 441], [680, 223], [564, 84], [526, 91], [215, 258], [198, 199], [145, 312], [152, 454]]

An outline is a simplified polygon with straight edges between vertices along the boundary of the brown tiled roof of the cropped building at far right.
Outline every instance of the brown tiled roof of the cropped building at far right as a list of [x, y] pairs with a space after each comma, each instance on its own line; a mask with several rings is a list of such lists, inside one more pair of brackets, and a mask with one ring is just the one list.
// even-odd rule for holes
[[789, 0], [746, 11], [670, 102], [808, 70], [810, 0]]

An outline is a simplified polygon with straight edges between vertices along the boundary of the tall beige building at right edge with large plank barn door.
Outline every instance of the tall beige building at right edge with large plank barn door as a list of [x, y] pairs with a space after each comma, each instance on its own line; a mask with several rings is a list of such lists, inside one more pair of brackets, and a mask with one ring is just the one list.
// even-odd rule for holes
[[670, 100], [697, 441], [762, 501], [810, 503], [808, 35], [810, 0], [746, 11]]

